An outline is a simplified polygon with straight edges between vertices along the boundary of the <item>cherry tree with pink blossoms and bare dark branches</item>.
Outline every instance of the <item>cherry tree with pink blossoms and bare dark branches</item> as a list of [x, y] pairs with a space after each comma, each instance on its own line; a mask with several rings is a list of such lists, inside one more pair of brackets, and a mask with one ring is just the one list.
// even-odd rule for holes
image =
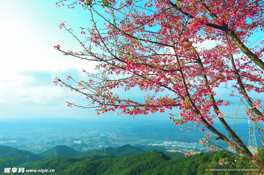
[[[181, 129], [205, 132], [206, 138], [200, 143], [210, 143], [207, 149], [224, 149], [218, 145], [223, 140], [235, 149], [237, 158], [247, 158], [251, 160], [250, 166], [264, 170], [263, 162], [256, 159], [257, 155], [237, 136], [235, 127], [231, 128], [225, 120], [227, 117], [233, 117], [234, 121], [252, 120], [263, 142], [263, 100], [256, 98], [257, 93], [263, 98], [264, 91], [263, 39], [254, 42], [250, 39], [263, 31], [263, 1], [79, 0], [69, 5], [66, 2], [56, 5], [82, 6], [91, 16], [92, 26], [80, 27], [79, 32], [85, 37], [80, 39], [62, 22], [59, 27], [75, 37], [83, 51], [67, 51], [60, 45], [54, 48], [66, 56], [96, 62], [98, 71], [92, 74], [83, 70], [90, 77], [87, 81], [68, 76], [66, 79], [76, 82], [77, 87], [54, 79], [55, 85], [60, 83], [91, 102], [88, 106], [68, 102], [69, 107], [95, 108], [98, 115], [116, 111], [133, 118], [179, 107], [181, 112], [170, 114], [169, 119], [182, 125]], [[144, 101], [124, 99], [113, 93], [116, 88], [129, 91], [132, 87], [153, 93], [146, 95]], [[216, 99], [215, 91], [219, 88], [229, 91], [223, 98], [230, 100]], [[220, 106], [244, 112], [228, 115]], [[216, 120], [229, 136], [214, 127]], [[184, 127], [187, 122], [194, 123], [194, 127]], [[210, 139], [212, 135], [216, 138]], [[226, 163], [220, 160], [220, 164]]]

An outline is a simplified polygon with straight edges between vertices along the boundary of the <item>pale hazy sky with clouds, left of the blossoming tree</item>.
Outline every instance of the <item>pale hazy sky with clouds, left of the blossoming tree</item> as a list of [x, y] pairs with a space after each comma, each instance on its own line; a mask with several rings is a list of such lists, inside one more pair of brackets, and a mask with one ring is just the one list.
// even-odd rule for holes
[[[80, 6], [76, 6], [75, 9], [56, 8], [55, 2], [54, 0], [1, 2], [0, 119], [131, 118], [128, 115], [116, 116], [115, 112], [97, 116], [94, 109], [67, 107], [65, 101], [84, 106], [87, 101], [82, 95], [70, 92], [65, 87], [54, 86], [53, 78], [64, 79], [70, 75], [77, 80], [85, 80], [86, 75], [81, 69], [93, 71], [94, 63], [63, 56], [53, 48], [60, 44], [62, 49], [79, 51], [78, 42], [67, 31], [59, 29], [58, 25], [60, 20], [67, 21], [66, 27], [73, 28], [74, 34], [81, 36], [79, 27], [91, 25], [90, 14], [83, 11]], [[133, 94], [142, 99], [142, 95], [145, 94], [137, 89], [121, 93], [128, 96]], [[225, 89], [218, 90], [219, 97], [225, 93], [230, 92]], [[223, 112], [230, 111], [228, 107], [222, 109]], [[234, 110], [232, 108], [232, 111]], [[162, 114], [138, 117], [165, 120], [169, 117], [168, 113], [178, 112], [175, 109]]]

